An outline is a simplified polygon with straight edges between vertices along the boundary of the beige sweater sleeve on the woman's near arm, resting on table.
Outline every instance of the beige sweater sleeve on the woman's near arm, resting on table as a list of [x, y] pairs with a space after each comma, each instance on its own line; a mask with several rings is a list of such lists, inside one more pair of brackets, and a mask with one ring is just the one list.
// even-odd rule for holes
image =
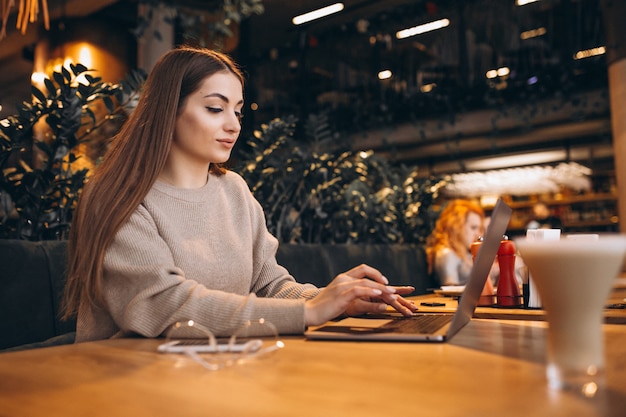
[[[268, 295], [280, 294], [285, 285]], [[156, 337], [187, 319], [217, 336], [228, 336], [247, 320], [258, 318], [271, 321], [280, 333], [301, 333], [305, 327], [303, 298], [233, 294], [186, 278], [141, 207], [107, 251], [103, 290], [106, 310], [121, 334]]]

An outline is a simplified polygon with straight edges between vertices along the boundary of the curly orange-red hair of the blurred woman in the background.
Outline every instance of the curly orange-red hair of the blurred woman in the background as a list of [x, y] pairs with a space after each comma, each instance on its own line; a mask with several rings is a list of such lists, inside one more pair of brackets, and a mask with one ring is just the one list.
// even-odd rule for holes
[[442, 248], [451, 248], [461, 259], [469, 256], [463, 236], [463, 228], [469, 213], [476, 213], [481, 219], [485, 218], [483, 209], [471, 200], [450, 201], [441, 211], [435, 228], [426, 241], [429, 272], [432, 272], [435, 256]]

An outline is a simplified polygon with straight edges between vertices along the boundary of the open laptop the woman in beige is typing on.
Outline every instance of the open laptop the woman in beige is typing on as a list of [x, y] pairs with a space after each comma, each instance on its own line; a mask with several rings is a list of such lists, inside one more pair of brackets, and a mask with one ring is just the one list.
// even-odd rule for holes
[[310, 327], [305, 337], [311, 340], [369, 340], [404, 342], [445, 342], [461, 330], [474, 315], [478, 299], [496, 257], [500, 241], [511, 218], [511, 208], [499, 199], [491, 214], [470, 276], [457, 310], [451, 313], [416, 313], [404, 317], [398, 312], [347, 317]]

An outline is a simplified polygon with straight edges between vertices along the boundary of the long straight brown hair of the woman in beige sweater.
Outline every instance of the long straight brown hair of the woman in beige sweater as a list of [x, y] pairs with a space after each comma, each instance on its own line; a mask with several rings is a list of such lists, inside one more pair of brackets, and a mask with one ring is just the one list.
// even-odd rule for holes
[[[102, 302], [102, 263], [120, 227], [143, 201], [160, 174], [186, 98], [218, 72], [244, 77], [230, 57], [208, 49], [180, 47], [166, 52], [152, 69], [137, 108], [113, 139], [102, 163], [85, 185], [72, 219], [63, 318], [83, 302]], [[209, 170], [222, 175], [224, 168]]]

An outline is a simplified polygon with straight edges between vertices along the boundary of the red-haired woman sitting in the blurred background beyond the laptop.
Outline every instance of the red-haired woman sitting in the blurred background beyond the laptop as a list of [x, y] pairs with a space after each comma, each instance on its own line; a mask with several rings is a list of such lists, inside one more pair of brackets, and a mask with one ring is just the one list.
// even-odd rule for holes
[[453, 200], [442, 210], [426, 242], [430, 272], [441, 285], [464, 285], [472, 269], [470, 246], [484, 231], [485, 212], [469, 200]]

